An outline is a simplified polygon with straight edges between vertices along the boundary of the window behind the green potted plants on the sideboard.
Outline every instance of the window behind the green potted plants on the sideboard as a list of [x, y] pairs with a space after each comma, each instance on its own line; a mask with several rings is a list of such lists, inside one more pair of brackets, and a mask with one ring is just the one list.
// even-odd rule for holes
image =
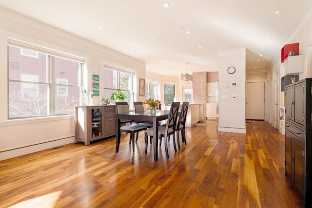
[[120, 90], [123, 94], [127, 96], [126, 102], [129, 104], [129, 109], [134, 109], [134, 93], [133, 93], [133, 79], [134, 72], [119, 69], [113, 66], [104, 67], [104, 73], [102, 78], [102, 83], [104, 85], [104, 97], [110, 99], [112, 93], [116, 90]]

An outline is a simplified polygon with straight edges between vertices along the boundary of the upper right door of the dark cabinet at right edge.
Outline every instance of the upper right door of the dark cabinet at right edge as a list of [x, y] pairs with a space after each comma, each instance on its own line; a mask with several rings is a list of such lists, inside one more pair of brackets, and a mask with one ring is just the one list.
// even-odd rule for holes
[[304, 83], [294, 86], [294, 120], [305, 125], [305, 96]]

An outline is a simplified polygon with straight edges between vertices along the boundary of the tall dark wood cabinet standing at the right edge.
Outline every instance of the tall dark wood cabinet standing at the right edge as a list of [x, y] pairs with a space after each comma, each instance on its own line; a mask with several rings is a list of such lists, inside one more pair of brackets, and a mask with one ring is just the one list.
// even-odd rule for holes
[[285, 172], [312, 207], [312, 78], [286, 86]]

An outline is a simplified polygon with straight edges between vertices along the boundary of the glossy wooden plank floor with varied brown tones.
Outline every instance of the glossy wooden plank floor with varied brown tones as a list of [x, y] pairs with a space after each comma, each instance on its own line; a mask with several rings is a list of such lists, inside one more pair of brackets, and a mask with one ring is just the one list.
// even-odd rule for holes
[[265, 121], [247, 134], [216, 132], [216, 122], [187, 128], [187, 145], [164, 145], [158, 161], [143, 133], [69, 144], [0, 161], [0, 207], [300, 208], [285, 176], [285, 138]]

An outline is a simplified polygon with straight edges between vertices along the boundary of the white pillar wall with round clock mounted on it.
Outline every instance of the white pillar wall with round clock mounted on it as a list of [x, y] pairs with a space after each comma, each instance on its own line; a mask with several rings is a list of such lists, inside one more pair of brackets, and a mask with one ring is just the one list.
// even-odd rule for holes
[[[236, 68], [228, 74], [230, 66]], [[232, 86], [236, 82], [236, 86]], [[220, 132], [246, 133], [246, 49], [219, 52], [219, 126]], [[226, 92], [227, 91], [227, 92]], [[236, 99], [232, 95], [236, 95]]]

